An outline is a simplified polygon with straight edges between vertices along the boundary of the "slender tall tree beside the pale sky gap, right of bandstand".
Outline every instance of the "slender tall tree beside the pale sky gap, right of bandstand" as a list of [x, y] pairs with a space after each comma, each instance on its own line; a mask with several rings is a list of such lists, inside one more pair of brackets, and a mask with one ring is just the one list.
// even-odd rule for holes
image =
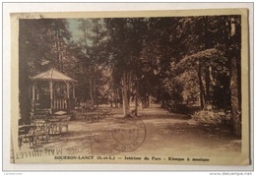
[[83, 32], [81, 44], [84, 47], [87, 61], [84, 65], [88, 70], [91, 105], [98, 106], [100, 87], [104, 84], [101, 76], [107, 58], [105, 58], [105, 28], [102, 19], [80, 19], [79, 29]]

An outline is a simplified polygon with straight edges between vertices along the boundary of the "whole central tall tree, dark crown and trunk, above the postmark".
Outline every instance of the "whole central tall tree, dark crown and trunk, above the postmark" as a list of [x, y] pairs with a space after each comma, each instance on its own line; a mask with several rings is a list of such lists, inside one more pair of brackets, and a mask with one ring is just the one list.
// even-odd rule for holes
[[106, 19], [105, 23], [109, 35], [113, 77], [121, 76], [121, 80], [115, 81], [122, 84], [124, 117], [129, 117], [131, 88], [137, 76], [142, 51], [144, 19]]

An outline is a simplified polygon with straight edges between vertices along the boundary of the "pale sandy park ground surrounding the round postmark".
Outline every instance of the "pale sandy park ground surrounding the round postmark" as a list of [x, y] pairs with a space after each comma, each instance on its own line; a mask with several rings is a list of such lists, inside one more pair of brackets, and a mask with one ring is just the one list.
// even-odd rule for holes
[[139, 111], [146, 127], [146, 138], [135, 150], [122, 152], [113, 147], [110, 134], [112, 122], [122, 118], [122, 109], [113, 108], [114, 115], [87, 123], [84, 119], [70, 121], [69, 131], [51, 136], [36, 147], [22, 150], [63, 148], [62, 154], [79, 155], [215, 155], [235, 156], [241, 151], [241, 141], [224, 126], [202, 124], [189, 115], [169, 113], [154, 105]]

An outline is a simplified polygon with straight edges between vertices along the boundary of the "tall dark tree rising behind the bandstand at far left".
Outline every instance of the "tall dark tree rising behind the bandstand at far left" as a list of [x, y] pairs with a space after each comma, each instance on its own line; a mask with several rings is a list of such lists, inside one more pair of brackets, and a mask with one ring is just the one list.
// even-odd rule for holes
[[55, 29], [58, 24], [58, 38], [64, 45], [70, 37], [65, 20], [28, 19], [20, 20], [19, 30], [19, 90], [20, 111], [25, 123], [30, 123], [31, 100], [29, 88], [30, 77], [50, 67], [57, 68]]

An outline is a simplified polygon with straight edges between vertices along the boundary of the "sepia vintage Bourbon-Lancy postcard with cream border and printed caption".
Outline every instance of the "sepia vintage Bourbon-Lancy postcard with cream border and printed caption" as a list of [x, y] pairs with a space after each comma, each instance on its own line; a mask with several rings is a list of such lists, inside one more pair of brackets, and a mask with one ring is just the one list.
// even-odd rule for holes
[[248, 165], [246, 9], [11, 14], [11, 163]]

